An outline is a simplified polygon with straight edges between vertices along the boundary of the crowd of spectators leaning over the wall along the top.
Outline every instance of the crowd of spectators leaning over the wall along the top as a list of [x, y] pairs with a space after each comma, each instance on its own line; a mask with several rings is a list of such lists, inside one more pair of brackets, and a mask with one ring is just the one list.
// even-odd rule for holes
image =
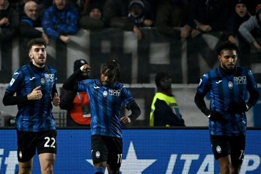
[[[224, 31], [231, 42], [242, 39], [260, 51], [254, 39], [260, 33], [259, 4], [259, 0], [4, 0], [0, 6], [0, 39], [3, 42], [19, 34], [22, 38], [41, 36], [47, 43], [49, 38], [67, 43], [68, 35], [76, 34], [79, 28], [116, 27], [133, 31], [140, 40], [140, 27], [155, 27], [174, 39]], [[250, 21], [242, 24], [252, 18], [255, 27], [249, 26]], [[29, 32], [30, 26], [42, 27], [43, 33], [33, 29]]]

